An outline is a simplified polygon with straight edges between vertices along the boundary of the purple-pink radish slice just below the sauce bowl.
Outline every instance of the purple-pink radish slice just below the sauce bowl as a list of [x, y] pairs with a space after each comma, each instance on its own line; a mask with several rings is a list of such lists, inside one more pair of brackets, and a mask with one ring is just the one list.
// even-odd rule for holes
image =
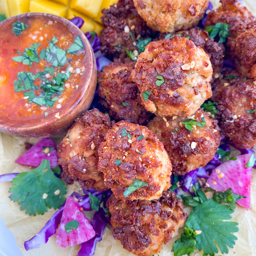
[[[43, 151], [43, 152], [42, 152]], [[57, 148], [54, 142], [49, 138], [42, 138], [35, 145], [23, 153], [16, 161], [17, 164], [30, 165], [38, 167], [42, 159], [50, 161], [51, 169], [58, 164]]]

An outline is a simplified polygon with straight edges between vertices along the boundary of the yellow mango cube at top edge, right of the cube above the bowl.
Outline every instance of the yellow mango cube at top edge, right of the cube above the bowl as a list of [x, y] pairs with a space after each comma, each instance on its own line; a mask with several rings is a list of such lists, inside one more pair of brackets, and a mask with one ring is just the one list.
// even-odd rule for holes
[[102, 1], [103, 0], [71, 0], [69, 7], [95, 18], [100, 11]]

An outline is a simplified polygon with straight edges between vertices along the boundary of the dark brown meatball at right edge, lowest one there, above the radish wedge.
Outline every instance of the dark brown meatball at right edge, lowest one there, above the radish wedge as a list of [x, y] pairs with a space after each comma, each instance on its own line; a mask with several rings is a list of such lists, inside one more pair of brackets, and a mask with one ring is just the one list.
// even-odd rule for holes
[[218, 102], [219, 113], [215, 118], [219, 119], [221, 136], [229, 137], [238, 148], [256, 145], [256, 112], [253, 111], [256, 109], [255, 82], [238, 73], [229, 79], [217, 79], [212, 100]]

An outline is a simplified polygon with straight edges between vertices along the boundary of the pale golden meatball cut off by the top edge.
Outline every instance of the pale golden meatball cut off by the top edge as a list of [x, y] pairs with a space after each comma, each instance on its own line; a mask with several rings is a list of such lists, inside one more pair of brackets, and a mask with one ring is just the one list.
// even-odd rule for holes
[[199, 23], [208, 0], [133, 0], [138, 14], [156, 31], [173, 32]]

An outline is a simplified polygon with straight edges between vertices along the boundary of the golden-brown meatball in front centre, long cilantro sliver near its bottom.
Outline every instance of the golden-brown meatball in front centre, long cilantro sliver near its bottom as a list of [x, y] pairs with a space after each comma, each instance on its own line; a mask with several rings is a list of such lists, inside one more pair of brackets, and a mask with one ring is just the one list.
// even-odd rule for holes
[[172, 164], [163, 143], [146, 126], [116, 123], [98, 152], [105, 186], [119, 200], [156, 199], [170, 187]]

